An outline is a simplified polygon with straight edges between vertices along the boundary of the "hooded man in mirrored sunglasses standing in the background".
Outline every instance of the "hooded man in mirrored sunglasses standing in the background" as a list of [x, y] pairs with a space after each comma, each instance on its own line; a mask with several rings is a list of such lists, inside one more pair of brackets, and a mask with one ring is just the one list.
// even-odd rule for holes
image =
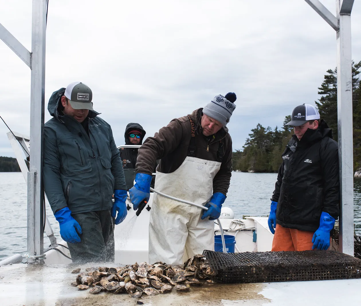
[[[124, 133], [126, 145], [142, 145], [144, 136], [145, 130], [139, 123], [130, 122], [127, 124]], [[120, 149], [120, 157], [123, 163], [123, 170], [128, 190], [133, 187], [137, 156], [138, 148]]]

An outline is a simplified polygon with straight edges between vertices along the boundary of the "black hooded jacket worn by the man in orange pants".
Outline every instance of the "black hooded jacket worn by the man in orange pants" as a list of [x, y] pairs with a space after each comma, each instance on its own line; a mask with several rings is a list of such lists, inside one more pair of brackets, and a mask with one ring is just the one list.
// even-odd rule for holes
[[286, 228], [316, 231], [321, 212], [339, 216], [338, 143], [321, 120], [299, 141], [292, 135], [282, 154], [275, 190], [277, 223]]

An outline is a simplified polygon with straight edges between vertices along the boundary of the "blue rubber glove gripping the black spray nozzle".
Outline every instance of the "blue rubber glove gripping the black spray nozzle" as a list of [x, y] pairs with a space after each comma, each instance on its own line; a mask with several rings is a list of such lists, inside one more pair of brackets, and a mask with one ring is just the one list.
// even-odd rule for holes
[[145, 173], [135, 174], [135, 185], [129, 190], [130, 202], [133, 209], [137, 210], [140, 203], [144, 200], [149, 201], [151, 196], [152, 176]]

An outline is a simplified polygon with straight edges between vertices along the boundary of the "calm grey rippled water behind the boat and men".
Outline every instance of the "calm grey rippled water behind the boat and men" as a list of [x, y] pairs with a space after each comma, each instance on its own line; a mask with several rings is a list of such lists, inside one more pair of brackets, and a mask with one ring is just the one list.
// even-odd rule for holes
[[[276, 173], [233, 172], [231, 186], [223, 206], [231, 207], [235, 218], [242, 215], [266, 216], [277, 178]], [[0, 258], [26, 253], [26, 184], [21, 172], [0, 172]], [[354, 184], [354, 220], [361, 234], [361, 180]], [[59, 224], [46, 204], [49, 222], [60, 239]], [[44, 246], [49, 245], [44, 236]]]

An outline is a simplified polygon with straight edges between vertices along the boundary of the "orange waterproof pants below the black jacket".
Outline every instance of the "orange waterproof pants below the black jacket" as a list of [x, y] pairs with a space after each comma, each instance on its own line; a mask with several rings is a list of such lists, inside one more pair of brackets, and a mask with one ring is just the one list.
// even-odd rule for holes
[[271, 251], [306, 251], [312, 250], [314, 232], [286, 228], [277, 224], [273, 236]]

